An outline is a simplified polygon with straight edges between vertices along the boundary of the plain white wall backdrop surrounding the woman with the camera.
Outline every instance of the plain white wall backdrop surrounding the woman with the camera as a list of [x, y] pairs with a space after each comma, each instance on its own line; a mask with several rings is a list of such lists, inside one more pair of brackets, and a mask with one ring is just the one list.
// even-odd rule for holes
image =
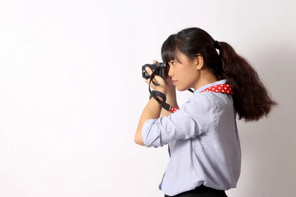
[[[238, 122], [229, 197], [294, 196], [296, 3], [291, 0], [0, 0], [0, 197], [163, 197], [167, 146], [134, 143], [142, 65], [199, 27], [244, 55], [280, 105]], [[179, 106], [192, 94], [177, 92]]]

